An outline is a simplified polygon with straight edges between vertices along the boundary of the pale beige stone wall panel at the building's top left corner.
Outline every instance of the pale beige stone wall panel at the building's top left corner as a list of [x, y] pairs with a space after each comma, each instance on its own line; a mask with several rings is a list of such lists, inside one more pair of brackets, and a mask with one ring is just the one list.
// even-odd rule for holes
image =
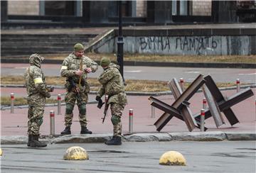
[[39, 0], [8, 1], [9, 15], [39, 15]]

